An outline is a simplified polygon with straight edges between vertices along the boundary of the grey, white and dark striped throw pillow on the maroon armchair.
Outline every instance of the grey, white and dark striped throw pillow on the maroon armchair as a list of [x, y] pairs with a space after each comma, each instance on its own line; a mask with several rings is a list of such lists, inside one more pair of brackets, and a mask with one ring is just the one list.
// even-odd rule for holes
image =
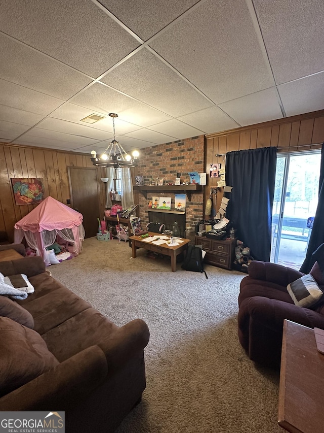
[[298, 280], [288, 284], [287, 290], [295, 305], [305, 308], [316, 304], [323, 295], [314, 277], [310, 274], [303, 275], [301, 278], [298, 278]]

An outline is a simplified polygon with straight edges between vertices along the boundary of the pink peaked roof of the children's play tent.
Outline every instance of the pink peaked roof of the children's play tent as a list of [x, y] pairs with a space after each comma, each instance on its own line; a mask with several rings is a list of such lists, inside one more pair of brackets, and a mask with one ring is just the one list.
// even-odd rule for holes
[[82, 224], [82, 221], [82, 214], [49, 196], [29, 214], [16, 222], [15, 228], [35, 233], [43, 230], [73, 228]]

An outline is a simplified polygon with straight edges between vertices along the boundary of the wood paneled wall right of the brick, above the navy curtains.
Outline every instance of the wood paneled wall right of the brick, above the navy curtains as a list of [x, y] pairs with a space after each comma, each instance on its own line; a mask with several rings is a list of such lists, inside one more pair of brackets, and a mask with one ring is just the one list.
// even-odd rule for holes
[[[208, 186], [205, 187], [204, 203], [209, 197], [210, 188], [217, 186], [217, 179], [209, 178], [210, 164], [222, 163], [222, 168], [225, 168], [227, 152], [269, 146], [276, 147], [278, 152], [299, 152], [319, 149], [323, 142], [324, 110], [207, 135], [205, 152]], [[223, 188], [220, 188], [216, 210], [220, 207], [222, 196]]]

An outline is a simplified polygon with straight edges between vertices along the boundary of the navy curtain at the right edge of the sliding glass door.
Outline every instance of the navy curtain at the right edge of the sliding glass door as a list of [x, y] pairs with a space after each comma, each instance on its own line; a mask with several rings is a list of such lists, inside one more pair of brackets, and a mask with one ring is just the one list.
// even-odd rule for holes
[[[306, 257], [300, 268], [300, 272], [303, 272], [304, 274], [308, 274], [315, 261], [318, 261], [318, 254], [324, 254], [323, 248], [318, 249], [318, 247], [324, 243], [324, 143], [322, 144], [321, 150], [318, 189], [318, 204], [313, 222], [313, 228], [309, 238]], [[316, 250], [317, 254], [315, 254]]]

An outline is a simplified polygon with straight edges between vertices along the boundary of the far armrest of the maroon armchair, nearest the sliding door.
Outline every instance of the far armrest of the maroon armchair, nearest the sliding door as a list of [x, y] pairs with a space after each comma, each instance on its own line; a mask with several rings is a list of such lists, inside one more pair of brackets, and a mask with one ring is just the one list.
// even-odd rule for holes
[[303, 275], [305, 274], [295, 269], [268, 261], [253, 260], [249, 265], [249, 277], [254, 280], [270, 281], [285, 287]]

